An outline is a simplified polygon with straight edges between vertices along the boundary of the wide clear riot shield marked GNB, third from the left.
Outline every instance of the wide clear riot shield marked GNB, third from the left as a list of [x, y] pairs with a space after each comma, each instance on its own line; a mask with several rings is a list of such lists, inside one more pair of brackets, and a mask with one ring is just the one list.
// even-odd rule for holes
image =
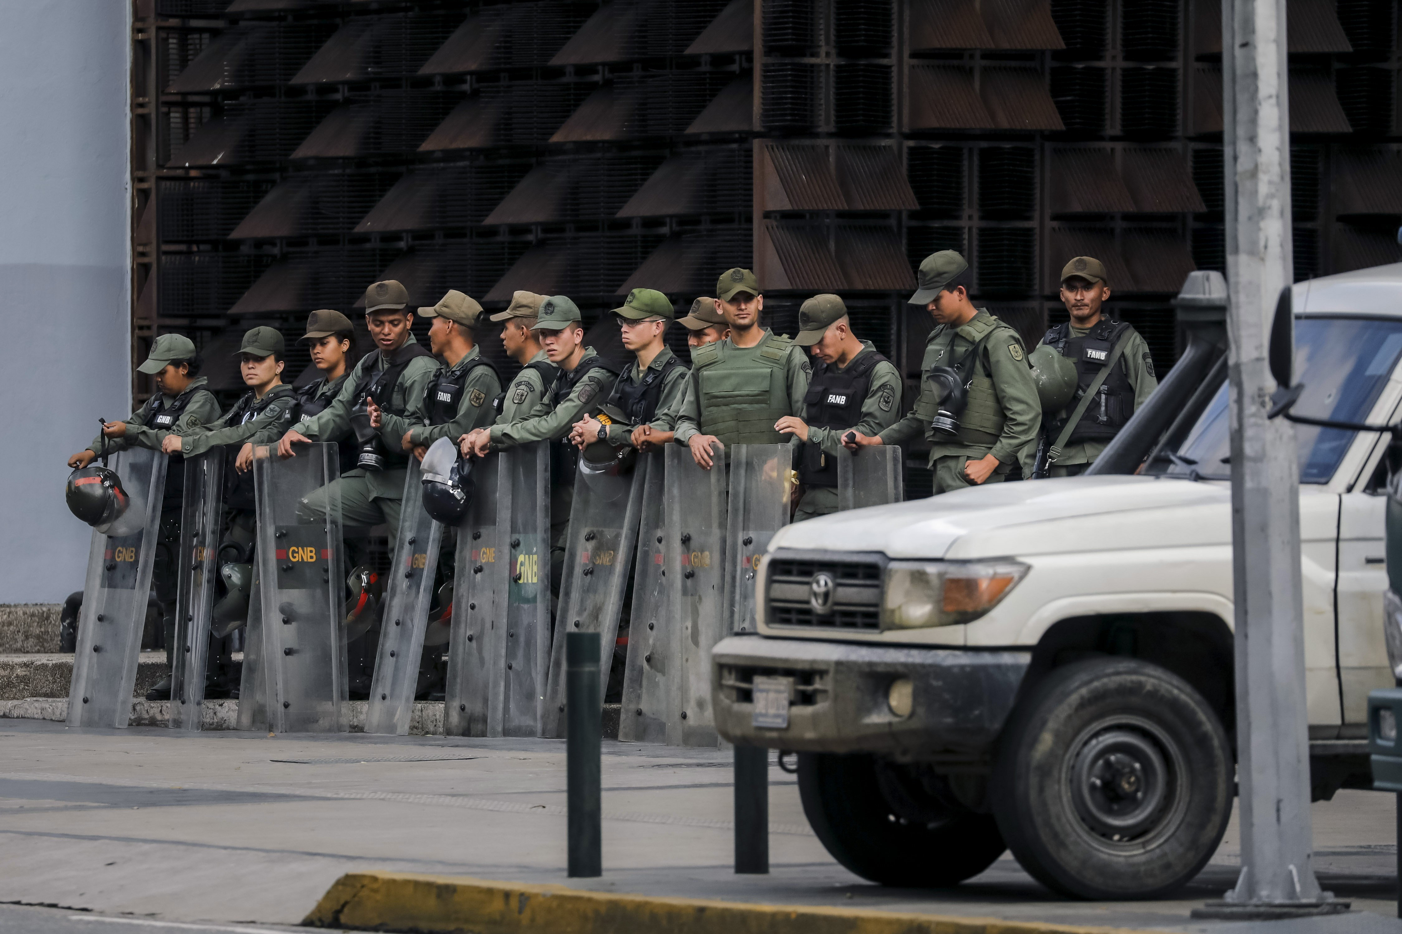
[[345, 732], [345, 571], [335, 444], [254, 451], [268, 730]]

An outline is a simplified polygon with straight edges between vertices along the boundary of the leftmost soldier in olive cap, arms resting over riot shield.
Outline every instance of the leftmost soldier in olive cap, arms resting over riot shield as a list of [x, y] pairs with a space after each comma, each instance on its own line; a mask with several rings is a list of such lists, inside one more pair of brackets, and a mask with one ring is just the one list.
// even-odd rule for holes
[[[184, 335], [161, 335], [136, 370], [154, 377], [156, 393], [126, 421], [108, 421], [86, 449], [69, 458], [69, 466], [84, 468], [107, 447], [108, 454], [140, 447], [160, 451], [165, 438], [198, 430], [219, 417], [219, 400], [205, 388], [199, 375], [199, 353]], [[160, 548], [151, 571], [151, 588], [161, 606], [161, 630], [165, 636], [165, 662], [171, 662], [175, 643], [175, 578], [178, 574], [181, 504], [185, 497], [185, 463], [177, 454], [165, 465], [165, 489], [161, 493]], [[165, 679], [170, 696], [170, 679]]]

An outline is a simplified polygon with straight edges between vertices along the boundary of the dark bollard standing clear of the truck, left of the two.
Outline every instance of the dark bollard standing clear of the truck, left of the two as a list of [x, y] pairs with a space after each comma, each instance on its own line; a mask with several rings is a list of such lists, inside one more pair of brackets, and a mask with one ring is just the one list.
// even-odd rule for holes
[[603, 737], [599, 633], [565, 634], [565, 756], [568, 762], [569, 877], [603, 874], [599, 832], [599, 756]]

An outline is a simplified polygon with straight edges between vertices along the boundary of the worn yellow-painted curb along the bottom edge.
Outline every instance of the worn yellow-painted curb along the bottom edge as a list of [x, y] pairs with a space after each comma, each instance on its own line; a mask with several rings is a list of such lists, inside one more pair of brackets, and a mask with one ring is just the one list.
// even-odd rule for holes
[[[1122, 928], [589, 892], [416, 872], [348, 872], [310, 927], [471, 934], [1108, 934]], [[1143, 934], [1143, 933], [1140, 933]]]

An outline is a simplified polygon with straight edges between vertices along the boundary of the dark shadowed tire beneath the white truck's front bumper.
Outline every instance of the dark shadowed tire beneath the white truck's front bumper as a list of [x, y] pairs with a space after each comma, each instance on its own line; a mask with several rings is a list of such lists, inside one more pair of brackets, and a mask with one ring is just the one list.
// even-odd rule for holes
[[872, 882], [958, 885], [1007, 849], [991, 815], [942, 802], [876, 756], [801, 752], [798, 788], [827, 851]]

